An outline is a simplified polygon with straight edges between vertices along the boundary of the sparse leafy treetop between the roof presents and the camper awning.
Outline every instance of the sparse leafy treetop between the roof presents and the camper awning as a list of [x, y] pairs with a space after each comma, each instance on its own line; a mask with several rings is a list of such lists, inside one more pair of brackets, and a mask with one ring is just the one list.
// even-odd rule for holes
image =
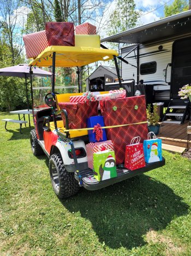
[[134, 0], [117, 0], [116, 9], [108, 22], [108, 35], [132, 29], [138, 18], [139, 12], [135, 10]]

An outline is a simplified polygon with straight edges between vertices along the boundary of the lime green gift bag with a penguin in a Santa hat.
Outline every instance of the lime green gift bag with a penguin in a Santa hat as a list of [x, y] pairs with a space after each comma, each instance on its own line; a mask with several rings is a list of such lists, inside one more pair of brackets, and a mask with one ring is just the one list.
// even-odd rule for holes
[[98, 181], [117, 177], [115, 152], [104, 150], [93, 153], [94, 178]]

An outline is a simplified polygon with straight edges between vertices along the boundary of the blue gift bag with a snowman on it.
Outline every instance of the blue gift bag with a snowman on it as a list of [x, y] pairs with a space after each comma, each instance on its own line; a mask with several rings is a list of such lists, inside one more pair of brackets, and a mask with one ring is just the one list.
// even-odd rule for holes
[[162, 140], [153, 132], [148, 133], [148, 139], [144, 140], [144, 155], [146, 163], [162, 161]]

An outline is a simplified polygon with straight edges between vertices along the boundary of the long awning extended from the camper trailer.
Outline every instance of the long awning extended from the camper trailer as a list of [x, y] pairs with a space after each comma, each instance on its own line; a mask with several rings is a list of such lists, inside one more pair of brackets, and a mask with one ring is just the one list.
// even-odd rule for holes
[[172, 15], [150, 24], [136, 27], [101, 39], [101, 42], [115, 43], [151, 43], [182, 35], [191, 35], [191, 10]]

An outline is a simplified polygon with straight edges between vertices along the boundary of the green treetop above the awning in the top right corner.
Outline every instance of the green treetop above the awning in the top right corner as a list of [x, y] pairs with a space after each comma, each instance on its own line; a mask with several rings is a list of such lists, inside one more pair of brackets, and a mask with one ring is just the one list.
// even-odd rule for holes
[[187, 0], [175, 0], [172, 4], [164, 5], [164, 16], [168, 17], [188, 10]]

